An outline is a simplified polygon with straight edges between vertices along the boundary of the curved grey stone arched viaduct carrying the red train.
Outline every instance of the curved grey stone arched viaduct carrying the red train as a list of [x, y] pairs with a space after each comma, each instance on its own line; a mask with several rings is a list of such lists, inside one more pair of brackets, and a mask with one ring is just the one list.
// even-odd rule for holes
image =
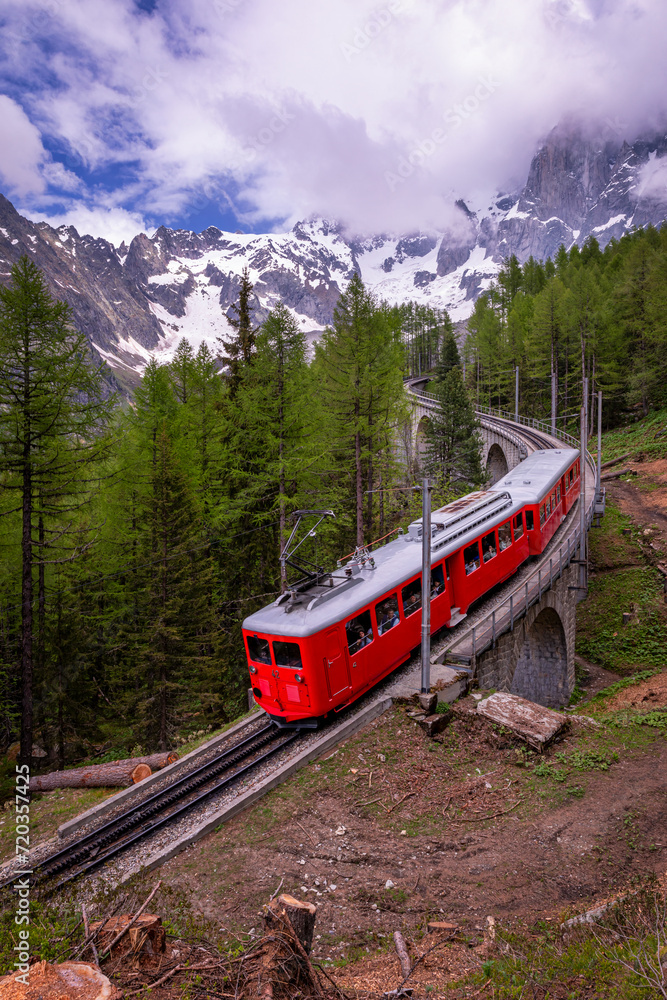
[[[437, 405], [420, 385], [406, 389], [419, 428]], [[569, 434], [550, 434], [547, 424], [512, 414], [480, 409], [485, 459], [491, 482], [537, 448], [573, 447]], [[432, 660], [458, 664], [472, 672], [480, 687], [510, 691], [541, 705], [559, 707], [574, 690], [575, 609], [586, 596], [585, 534], [595, 514], [596, 468], [589, 452], [584, 465], [582, 496], [552, 538], [546, 551], [531, 558], [515, 575], [473, 606], [465, 621], [434, 636]], [[584, 545], [581, 545], [581, 505]]]

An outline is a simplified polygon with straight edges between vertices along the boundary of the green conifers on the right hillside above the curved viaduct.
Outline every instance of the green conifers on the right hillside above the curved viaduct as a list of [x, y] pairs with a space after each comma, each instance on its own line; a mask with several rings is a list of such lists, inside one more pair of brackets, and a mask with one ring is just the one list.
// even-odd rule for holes
[[[606, 429], [667, 402], [667, 226], [628, 233], [604, 250], [589, 237], [555, 259], [504, 262], [468, 320], [466, 381], [483, 404], [575, 428], [588, 379], [590, 429], [603, 398]], [[576, 433], [576, 431], [575, 431]]]

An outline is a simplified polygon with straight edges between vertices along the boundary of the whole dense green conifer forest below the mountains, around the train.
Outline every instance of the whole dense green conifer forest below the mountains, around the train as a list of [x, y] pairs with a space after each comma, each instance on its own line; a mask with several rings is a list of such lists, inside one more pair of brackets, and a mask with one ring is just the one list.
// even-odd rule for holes
[[[481, 484], [470, 404], [512, 409], [515, 366], [527, 415], [554, 374], [559, 427], [582, 374], [606, 425], [664, 404], [666, 295], [667, 228], [647, 229], [507, 260], [460, 355], [446, 313], [355, 277], [309, 352], [283, 305], [255, 324], [246, 272], [218, 350], [182, 340], [127, 399], [23, 258], [0, 289], [0, 751], [62, 767], [238, 716], [240, 625], [288, 583], [294, 511], [334, 512], [301, 550], [331, 567], [418, 515], [422, 472], [439, 503]], [[403, 380], [424, 371], [420, 469]]]

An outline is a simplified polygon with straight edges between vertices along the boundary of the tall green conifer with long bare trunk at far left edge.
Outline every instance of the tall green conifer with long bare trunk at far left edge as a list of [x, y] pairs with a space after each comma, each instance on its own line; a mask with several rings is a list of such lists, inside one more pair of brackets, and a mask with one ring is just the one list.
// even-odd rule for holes
[[[91, 466], [111, 403], [69, 306], [51, 297], [35, 264], [22, 257], [0, 288], [0, 478], [8, 509], [21, 512], [21, 759], [33, 740], [34, 572], [57, 549], [71, 559], [86, 545], [74, 511], [94, 486]], [[38, 528], [39, 522], [40, 527]], [[37, 537], [35, 537], [37, 533]]]

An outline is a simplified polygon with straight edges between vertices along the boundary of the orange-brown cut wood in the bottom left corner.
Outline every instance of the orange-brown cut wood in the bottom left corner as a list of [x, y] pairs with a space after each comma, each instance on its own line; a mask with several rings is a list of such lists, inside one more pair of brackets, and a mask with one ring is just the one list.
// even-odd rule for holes
[[104, 973], [89, 962], [36, 962], [30, 966], [28, 985], [20, 971], [0, 979], [2, 1000], [120, 1000], [122, 993]]

